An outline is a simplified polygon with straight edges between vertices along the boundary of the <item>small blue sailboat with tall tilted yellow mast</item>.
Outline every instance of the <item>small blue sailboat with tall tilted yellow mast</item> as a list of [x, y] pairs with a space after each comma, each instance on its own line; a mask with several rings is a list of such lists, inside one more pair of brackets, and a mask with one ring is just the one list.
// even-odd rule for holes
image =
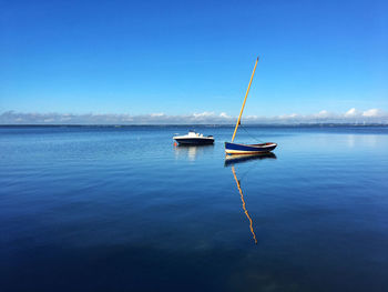
[[234, 129], [234, 133], [233, 133], [233, 137], [232, 137], [232, 142], [225, 142], [225, 152], [226, 152], [226, 154], [258, 154], [258, 153], [266, 153], [266, 152], [273, 151], [277, 147], [277, 144], [274, 143], [274, 142], [266, 142], [266, 143], [258, 143], [258, 144], [233, 143], [234, 138], [236, 137], [236, 132], [237, 132], [238, 125], [241, 124], [241, 119], [242, 119], [242, 115], [243, 115], [246, 98], [248, 97], [248, 93], [249, 93], [249, 89], [251, 89], [253, 77], [254, 77], [255, 71], [256, 71], [257, 62], [258, 62], [258, 57], [256, 59], [256, 63], [255, 63], [255, 68], [253, 69], [253, 72], [252, 72], [249, 85], [248, 85], [248, 89], [246, 90], [246, 93], [245, 93], [243, 107], [242, 107], [242, 110], [239, 111], [238, 120], [237, 120], [236, 127]]

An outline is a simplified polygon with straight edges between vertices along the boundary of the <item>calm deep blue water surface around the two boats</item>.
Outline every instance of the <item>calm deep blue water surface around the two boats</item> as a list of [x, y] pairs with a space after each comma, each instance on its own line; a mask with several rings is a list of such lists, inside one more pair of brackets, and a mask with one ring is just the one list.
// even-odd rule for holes
[[187, 130], [0, 128], [0, 291], [387, 291], [388, 128]]

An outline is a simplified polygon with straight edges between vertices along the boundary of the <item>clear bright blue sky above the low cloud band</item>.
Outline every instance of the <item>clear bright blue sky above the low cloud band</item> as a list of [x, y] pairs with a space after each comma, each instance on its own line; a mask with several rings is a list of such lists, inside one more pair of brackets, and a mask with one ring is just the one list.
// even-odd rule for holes
[[388, 111], [387, 1], [3, 1], [0, 113]]

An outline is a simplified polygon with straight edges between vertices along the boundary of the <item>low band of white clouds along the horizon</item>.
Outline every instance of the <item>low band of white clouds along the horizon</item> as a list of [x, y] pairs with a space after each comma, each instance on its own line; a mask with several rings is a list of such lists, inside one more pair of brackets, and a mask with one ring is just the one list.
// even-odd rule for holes
[[[159, 125], [159, 124], [234, 124], [237, 117], [225, 112], [201, 112], [192, 114], [129, 114], [129, 113], [25, 113], [4, 111], [0, 113], [2, 125]], [[309, 125], [309, 124], [345, 124], [345, 125], [379, 125], [388, 124], [388, 112], [380, 109], [358, 111], [350, 109], [345, 113], [331, 113], [323, 110], [314, 114], [283, 114], [275, 117], [247, 115], [242, 122], [251, 125]]]

